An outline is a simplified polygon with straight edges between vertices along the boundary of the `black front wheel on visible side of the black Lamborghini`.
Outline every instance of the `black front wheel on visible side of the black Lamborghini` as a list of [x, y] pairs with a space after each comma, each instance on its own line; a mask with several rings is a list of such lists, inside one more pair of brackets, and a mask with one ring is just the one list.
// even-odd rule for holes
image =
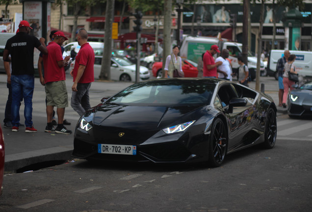
[[228, 151], [228, 135], [224, 122], [216, 118], [211, 127], [209, 139], [209, 165], [221, 166]]

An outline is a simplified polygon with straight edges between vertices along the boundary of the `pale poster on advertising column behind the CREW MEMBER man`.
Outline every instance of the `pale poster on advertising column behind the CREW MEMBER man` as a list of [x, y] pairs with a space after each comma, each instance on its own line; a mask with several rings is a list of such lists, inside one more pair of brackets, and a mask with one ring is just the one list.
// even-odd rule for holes
[[[34, 35], [38, 39], [42, 37], [42, 2], [41, 1], [24, 1], [24, 20], [30, 27], [30, 35]], [[38, 68], [38, 58], [40, 51], [35, 48], [33, 52], [33, 66]]]

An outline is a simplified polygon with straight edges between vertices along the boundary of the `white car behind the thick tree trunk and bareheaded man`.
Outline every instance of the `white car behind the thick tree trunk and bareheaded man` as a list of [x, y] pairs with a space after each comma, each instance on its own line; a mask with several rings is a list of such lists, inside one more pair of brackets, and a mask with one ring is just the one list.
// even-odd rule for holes
[[[102, 67], [102, 55], [95, 55], [94, 60], [94, 78], [99, 79]], [[75, 66], [75, 61], [71, 63], [71, 69]], [[132, 81], [135, 82], [136, 66], [127, 57], [111, 57], [110, 78], [116, 81]], [[140, 66], [140, 79], [150, 79], [149, 70]]]

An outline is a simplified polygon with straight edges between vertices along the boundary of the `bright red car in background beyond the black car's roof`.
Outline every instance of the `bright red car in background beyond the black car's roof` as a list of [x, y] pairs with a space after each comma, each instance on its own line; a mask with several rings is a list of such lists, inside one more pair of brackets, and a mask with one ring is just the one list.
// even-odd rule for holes
[[[183, 60], [182, 61], [182, 71], [184, 73], [184, 77], [197, 77], [197, 63], [191, 60]], [[156, 78], [162, 78], [162, 62], [155, 62], [152, 66], [153, 76]]]

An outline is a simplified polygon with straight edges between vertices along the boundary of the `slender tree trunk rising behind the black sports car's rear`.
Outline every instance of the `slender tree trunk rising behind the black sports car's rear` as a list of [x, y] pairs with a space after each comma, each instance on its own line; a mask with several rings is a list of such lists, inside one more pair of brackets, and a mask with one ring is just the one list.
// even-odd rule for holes
[[262, 52], [262, 27], [264, 21], [264, 0], [261, 0], [260, 20], [259, 20], [259, 34], [258, 34], [258, 50], [257, 50], [257, 72], [256, 72], [256, 87], [260, 91], [260, 60]]

